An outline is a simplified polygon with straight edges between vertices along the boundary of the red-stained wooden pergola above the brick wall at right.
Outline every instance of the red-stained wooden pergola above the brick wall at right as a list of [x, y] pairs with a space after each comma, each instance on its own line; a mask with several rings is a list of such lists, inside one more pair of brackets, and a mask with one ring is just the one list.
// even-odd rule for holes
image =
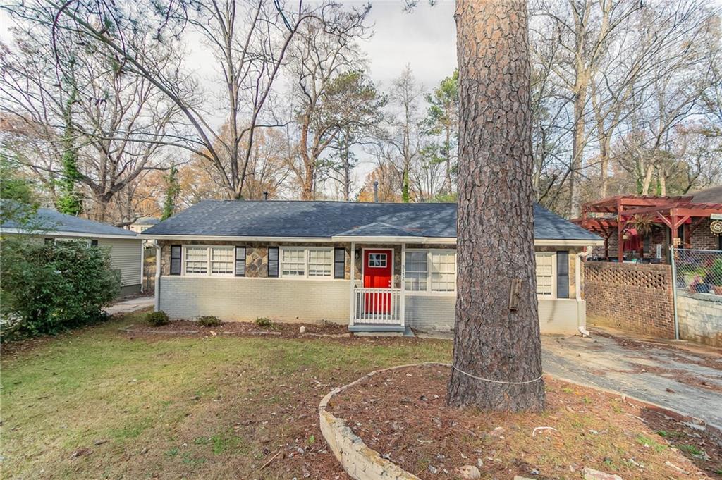
[[627, 224], [635, 217], [651, 217], [653, 221], [665, 224], [670, 230], [671, 245], [677, 245], [680, 226], [685, 226], [682, 242], [690, 243], [692, 231], [712, 214], [722, 214], [722, 204], [695, 203], [692, 196], [618, 195], [584, 204], [581, 217], [573, 222], [604, 237], [604, 256], [607, 259], [609, 239], [616, 231], [617, 260], [622, 262], [622, 237]]

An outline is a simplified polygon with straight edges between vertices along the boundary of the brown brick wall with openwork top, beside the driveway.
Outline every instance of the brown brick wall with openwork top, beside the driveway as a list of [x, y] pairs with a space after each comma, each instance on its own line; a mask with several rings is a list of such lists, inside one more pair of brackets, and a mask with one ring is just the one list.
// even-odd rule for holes
[[674, 339], [669, 265], [585, 262], [584, 297], [589, 325]]

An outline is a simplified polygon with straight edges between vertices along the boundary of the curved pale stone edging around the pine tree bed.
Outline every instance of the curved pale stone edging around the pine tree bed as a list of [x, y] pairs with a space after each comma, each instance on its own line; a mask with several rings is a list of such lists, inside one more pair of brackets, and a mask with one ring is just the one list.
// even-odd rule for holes
[[[400, 368], [407, 367], [423, 367], [425, 365], [437, 365], [440, 367], [449, 367], [451, 364], [441, 362], [423, 362], [413, 363], [409, 365], [397, 365], [396, 367], [383, 368], [381, 370], [374, 370], [361, 378], [354, 380], [352, 383], [342, 385], [334, 388], [326, 396], [321, 398], [321, 402], [318, 403], [318, 421], [321, 424], [321, 435], [329, 444], [329, 448], [336, 456], [336, 459], [341, 463], [347, 474], [355, 480], [420, 480], [418, 476], [409, 473], [403, 468], [396, 465], [391, 461], [383, 458], [380, 453], [372, 448], [369, 448], [360, 437], [358, 437], [352, 429], [348, 427], [346, 421], [341, 419], [334, 414], [331, 414], [326, 408], [329, 406], [331, 398], [342, 393], [344, 390], [352, 388], [358, 385], [363, 380], [372, 378], [383, 372], [389, 370], [398, 370]], [[669, 416], [679, 422], [686, 422], [687, 424], [695, 425], [697, 428], [704, 429], [709, 435], [712, 435], [718, 441], [722, 441], [722, 428], [714, 424], [709, 424], [703, 419], [698, 419], [690, 414], [684, 414], [681, 411], [669, 409], [665, 406], [651, 403], [640, 398], [632, 397], [626, 393], [617, 392], [615, 390], [609, 390], [606, 388], [596, 387], [594, 385], [586, 385], [584, 383], [569, 380], [567, 378], [551, 377], [560, 382], [571, 383], [572, 385], [578, 385], [584, 388], [592, 388], [593, 390], [599, 390], [604, 393], [610, 393], [614, 396], [619, 396], [622, 399], [629, 399], [640, 403], [645, 408], [653, 411], [658, 411], [661, 414]]]

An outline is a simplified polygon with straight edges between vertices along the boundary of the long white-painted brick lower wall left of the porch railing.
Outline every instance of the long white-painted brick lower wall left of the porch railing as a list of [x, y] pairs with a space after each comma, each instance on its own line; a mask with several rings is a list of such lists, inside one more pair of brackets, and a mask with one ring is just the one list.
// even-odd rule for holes
[[287, 322], [349, 322], [348, 280], [162, 276], [160, 310], [171, 318], [266, 317]]

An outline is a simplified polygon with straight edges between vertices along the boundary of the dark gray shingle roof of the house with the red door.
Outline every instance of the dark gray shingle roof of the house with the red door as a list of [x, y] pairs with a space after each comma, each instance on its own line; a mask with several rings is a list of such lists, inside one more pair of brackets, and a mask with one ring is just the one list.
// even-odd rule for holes
[[[542, 206], [534, 217], [537, 239], [601, 240]], [[456, 204], [206, 200], [143, 235], [456, 237]]]

